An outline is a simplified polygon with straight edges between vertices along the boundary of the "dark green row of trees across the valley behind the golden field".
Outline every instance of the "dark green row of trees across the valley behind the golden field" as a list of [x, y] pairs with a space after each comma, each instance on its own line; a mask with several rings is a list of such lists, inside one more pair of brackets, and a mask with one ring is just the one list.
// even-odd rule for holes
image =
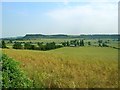
[[[78, 46], [85, 46], [84, 40], [70, 40], [70, 41], [64, 41], [61, 42], [60, 44], [56, 44], [55, 42], [50, 42], [50, 43], [43, 43], [43, 42], [37, 42], [37, 44], [34, 44], [32, 42], [12, 42], [10, 40], [10, 43], [13, 43], [13, 49], [30, 49], [30, 50], [52, 50], [52, 49], [57, 49], [61, 47], [78, 47]], [[109, 47], [107, 45], [107, 41], [103, 42], [102, 40], [98, 40], [98, 46], [99, 47]], [[6, 43], [4, 40], [1, 41], [0, 43], [1, 48], [8, 48], [6, 46]], [[88, 46], [91, 46], [91, 42], [87, 42]]]

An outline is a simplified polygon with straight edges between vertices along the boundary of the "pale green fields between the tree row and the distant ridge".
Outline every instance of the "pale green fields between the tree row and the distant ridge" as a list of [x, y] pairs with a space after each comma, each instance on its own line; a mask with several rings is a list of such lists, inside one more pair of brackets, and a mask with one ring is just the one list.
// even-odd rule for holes
[[[43, 43], [50, 43], [50, 42], [55, 42], [56, 44], [61, 44], [61, 42], [66, 42], [66, 41], [71, 41], [71, 40], [80, 40], [79, 38], [53, 38], [53, 39], [48, 39], [48, 38], [36, 38], [36, 39], [29, 39], [29, 40], [14, 40], [16, 42], [32, 42], [34, 43], [35, 46], [37, 46], [38, 42], [43, 42]], [[99, 39], [85, 39], [84, 40], [84, 44], [85, 46], [88, 46], [88, 42], [91, 43], [91, 46], [98, 46], [98, 40]], [[111, 47], [116, 47], [116, 48], [120, 48], [120, 42], [114, 39], [102, 39], [103, 42], [106, 42], [109, 40], [109, 43], [107, 43], [107, 45], [111, 46]], [[14, 43], [10, 43], [9, 40], [5, 40], [6, 45], [8, 48], [12, 48]]]

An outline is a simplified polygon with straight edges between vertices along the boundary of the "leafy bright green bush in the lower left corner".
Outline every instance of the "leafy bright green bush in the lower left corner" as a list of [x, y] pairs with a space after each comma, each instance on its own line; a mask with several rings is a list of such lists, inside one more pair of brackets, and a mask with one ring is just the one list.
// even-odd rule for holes
[[0, 58], [2, 62], [2, 87], [3, 88], [27, 88], [32, 86], [32, 81], [28, 79], [19, 68], [19, 63], [3, 54]]

